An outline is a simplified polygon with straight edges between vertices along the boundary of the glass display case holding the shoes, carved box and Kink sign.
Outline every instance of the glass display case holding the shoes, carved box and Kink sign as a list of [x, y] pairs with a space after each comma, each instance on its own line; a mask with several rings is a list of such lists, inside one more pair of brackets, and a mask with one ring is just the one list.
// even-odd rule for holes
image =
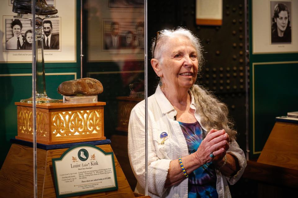
[[125, 141], [146, 95], [144, 1], [1, 3], [1, 194], [142, 196]]

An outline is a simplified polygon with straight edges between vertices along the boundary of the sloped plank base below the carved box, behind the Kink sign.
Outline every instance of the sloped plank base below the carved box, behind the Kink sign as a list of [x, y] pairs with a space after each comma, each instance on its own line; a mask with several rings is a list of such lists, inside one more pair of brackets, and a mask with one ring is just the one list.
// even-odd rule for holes
[[[15, 142], [15, 144], [14, 144]], [[110, 140], [95, 141], [96, 145], [105, 152], [113, 152]], [[33, 197], [33, 148], [30, 142], [12, 140], [11, 149], [0, 171], [0, 197]], [[95, 144], [94, 143], [94, 144]], [[76, 143], [80, 144], [80, 143]], [[90, 142], [92, 144], [92, 142]], [[49, 149], [49, 146], [65, 147], [62, 149]], [[38, 147], [44, 145], [38, 144]], [[52, 158], [60, 157], [73, 144], [49, 145], [43, 149], [37, 149], [37, 195], [38, 197], [56, 197], [55, 182], [52, 167]], [[73, 197], [134, 197], [134, 194], [125, 178], [116, 156], [115, 168], [118, 180], [118, 190], [99, 192]]]

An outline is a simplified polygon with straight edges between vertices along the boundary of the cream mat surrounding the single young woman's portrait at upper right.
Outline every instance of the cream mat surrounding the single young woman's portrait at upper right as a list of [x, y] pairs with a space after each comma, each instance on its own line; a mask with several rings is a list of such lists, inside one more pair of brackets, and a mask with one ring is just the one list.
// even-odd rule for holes
[[[289, 1], [287, 1], [289, 2]], [[291, 44], [271, 44], [270, 0], [252, 1], [252, 53], [294, 53], [298, 52], [298, 1], [291, 2]]]

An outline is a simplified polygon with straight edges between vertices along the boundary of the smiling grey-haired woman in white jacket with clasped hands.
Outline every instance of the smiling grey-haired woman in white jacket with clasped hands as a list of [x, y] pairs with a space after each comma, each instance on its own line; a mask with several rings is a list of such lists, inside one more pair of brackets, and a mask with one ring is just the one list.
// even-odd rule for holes
[[[246, 167], [227, 106], [199, 85], [202, 50], [189, 30], [160, 31], [151, 65], [160, 77], [148, 97], [148, 191], [151, 197], [231, 197]], [[129, 159], [145, 187], [145, 101], [130, 114]]]

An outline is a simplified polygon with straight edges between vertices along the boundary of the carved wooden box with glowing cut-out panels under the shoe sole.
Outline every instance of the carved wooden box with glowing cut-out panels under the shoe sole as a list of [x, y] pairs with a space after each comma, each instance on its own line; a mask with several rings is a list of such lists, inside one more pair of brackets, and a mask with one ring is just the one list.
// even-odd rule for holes
[[[32, 141], [32, 104], [16, 102], [18, 135]], [[36, 104], [36, 140], [41, 144], [64, 144], [104, 140], [105, 102], [84, 104]]]

